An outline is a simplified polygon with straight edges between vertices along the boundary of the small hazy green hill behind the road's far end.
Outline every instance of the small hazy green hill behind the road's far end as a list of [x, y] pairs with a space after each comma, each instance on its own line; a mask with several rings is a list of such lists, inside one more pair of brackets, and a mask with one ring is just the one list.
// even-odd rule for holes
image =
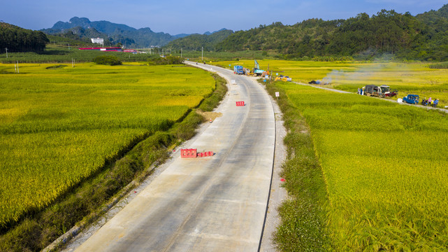
[[167, 48], [175, 50], [215, 50], [217, 43], [223, 41], [225, 38], [233, 34], [232, 30], [220, 29], [215, 32], [206, 32], [205, 34], [192, 34], [183, 38], [178, 38], [166, 45]]

